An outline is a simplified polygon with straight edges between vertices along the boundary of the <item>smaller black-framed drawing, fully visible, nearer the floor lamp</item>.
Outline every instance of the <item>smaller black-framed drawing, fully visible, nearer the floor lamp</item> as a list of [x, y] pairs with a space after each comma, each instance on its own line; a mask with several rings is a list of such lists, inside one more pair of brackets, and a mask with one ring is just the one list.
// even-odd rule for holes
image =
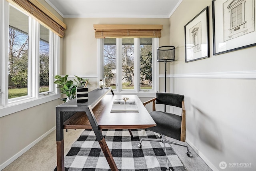
[[208, 6], [195, 16], [185, 29], [185, 61], [192, 62], [210, 57]]

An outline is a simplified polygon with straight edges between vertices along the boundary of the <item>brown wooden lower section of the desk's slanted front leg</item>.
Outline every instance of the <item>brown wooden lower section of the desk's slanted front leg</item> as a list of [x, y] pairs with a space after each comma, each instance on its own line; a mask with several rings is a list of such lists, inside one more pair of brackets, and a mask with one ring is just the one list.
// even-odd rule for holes
[[111, 171], [118, 171], [116, 163], [113, 159], [112, 154], [109, 151], [109, 148], [108, 148], [108, 145], [107, 145], [105, 139], [103, 138], [101, 141], [99, 141], [99, 144], [100, 144], [100, 147], [108, 161], [108, 165], [110, 166]]

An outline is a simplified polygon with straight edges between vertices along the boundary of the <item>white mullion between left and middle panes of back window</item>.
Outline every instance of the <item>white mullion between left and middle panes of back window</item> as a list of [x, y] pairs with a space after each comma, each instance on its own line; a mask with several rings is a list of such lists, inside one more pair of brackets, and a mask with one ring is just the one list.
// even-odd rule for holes
[[116, 38], [116, 90], [122, 90], [122, 38]]

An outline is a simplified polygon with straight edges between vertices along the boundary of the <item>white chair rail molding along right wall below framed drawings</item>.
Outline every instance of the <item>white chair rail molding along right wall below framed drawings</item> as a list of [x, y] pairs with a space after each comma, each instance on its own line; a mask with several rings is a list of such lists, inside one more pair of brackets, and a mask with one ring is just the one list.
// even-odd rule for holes
[[[164, 74], [160, 74], [159, 77], [164, 78]], [[214, 79], [256, 80], [256, 71], [168, 74], [166, 75], [166, 77], [167, 78], [214, 78]]]

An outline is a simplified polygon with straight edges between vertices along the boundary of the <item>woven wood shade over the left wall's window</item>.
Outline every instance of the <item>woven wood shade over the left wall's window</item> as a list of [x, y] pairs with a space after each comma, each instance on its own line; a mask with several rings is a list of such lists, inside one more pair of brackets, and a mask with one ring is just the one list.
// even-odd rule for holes
[[[34, 16], [40, 23], [52, 30], [61, 38], [64, 37], [64, 30], [66, 30], [66, 24], [58, 19], [54, 14], [47, 10], [37, 0], [8, 0], [8, 2], [15, 6], [21, 7], [29, 14]], [[14, 3], [13, 3], [14, 2]]]

